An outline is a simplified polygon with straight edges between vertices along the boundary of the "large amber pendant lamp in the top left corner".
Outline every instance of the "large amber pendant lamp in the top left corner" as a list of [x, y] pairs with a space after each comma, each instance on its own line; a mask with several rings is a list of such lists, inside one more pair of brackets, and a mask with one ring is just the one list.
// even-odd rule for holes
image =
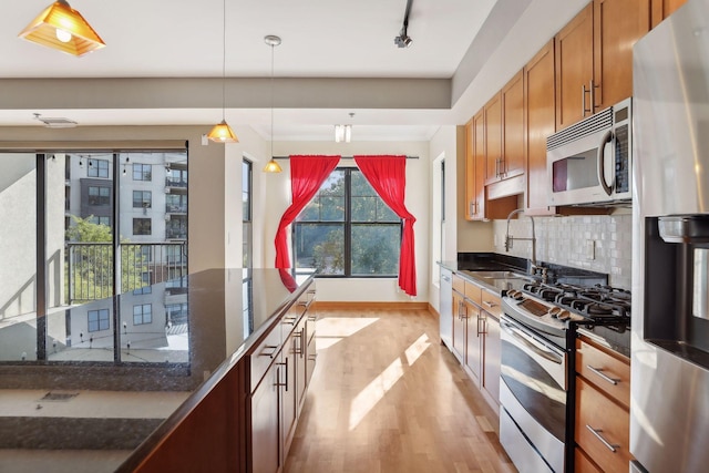
[[106, 45], [65, 0], [56, 0], [47, 7], [18, 37], [73, 55]]

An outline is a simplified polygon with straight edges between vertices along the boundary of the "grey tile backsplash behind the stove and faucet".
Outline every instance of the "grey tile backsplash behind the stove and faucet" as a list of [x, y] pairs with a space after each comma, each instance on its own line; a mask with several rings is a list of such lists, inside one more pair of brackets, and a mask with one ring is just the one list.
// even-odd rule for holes
[[[536, 259], [608, 274], [608, 284], [624, 289], [631, 286], [633, 215], [588, 215], [534, 217]], [[532, 257], [532, 243], [514, 240], [505, 251], [506, 220], [494, 220], [495, 251]], [[521, 215], [510, 220], [510, 235], [532, 237], [532, 220]]]

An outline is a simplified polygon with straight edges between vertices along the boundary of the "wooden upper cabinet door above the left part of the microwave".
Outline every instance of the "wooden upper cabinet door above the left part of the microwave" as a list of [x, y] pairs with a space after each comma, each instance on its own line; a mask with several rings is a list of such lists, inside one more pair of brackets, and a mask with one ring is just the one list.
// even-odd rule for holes
[[[554, 38], [556, 49], [556, 130], [593, 113], [594, 9], [584, 8]], [[584, 92], [586, 91], [586, 92]]]

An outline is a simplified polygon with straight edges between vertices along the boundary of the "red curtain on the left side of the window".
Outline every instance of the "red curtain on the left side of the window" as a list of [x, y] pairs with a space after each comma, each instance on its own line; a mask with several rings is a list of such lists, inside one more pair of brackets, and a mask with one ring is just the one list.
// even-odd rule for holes
[[276, 268], [290, 268], [286, 227], [308, 205], [339, 161], [340, 156], [290, 156], [292, 204], [280, 217], [276, 230]]

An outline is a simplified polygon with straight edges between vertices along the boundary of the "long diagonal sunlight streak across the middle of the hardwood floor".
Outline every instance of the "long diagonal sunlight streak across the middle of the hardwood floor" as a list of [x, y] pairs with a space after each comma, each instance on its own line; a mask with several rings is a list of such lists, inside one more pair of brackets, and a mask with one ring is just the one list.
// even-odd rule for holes
[[374, 378], [357, 397], [350, 407], [350, 431], [377, 405], [379, 401], [393, 388], [404, 373], [402, 358], [405, 357], [407, 366], [411, 367], [421, 354], [431, 346], [429, 337], [423, 333], [411, 343], [403, 353], [391, 362], [377, 378]]

